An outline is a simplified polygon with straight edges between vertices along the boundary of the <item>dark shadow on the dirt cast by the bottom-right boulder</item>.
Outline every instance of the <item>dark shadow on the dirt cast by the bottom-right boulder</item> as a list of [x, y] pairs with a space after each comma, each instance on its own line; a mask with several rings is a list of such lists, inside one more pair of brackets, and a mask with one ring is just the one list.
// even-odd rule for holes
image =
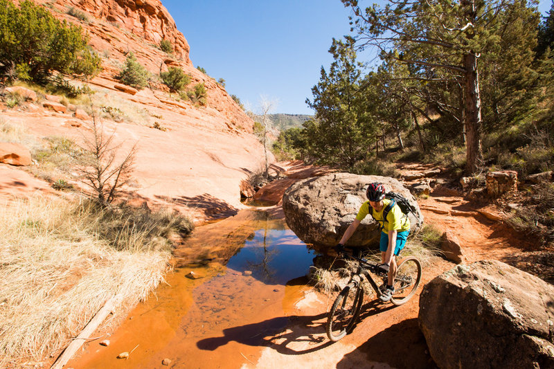
[[[354, 352], [346, 354], [337, 363], [337, 369], [350, 369], [359, 363], [359, 353], [367, 356], [368, 363], [375, 363], [373, 368], [437, 368], [433, 359], [427, 354], [427, 343], [418, 326], [418, 319], [408, 319], [386, 330], [375, 334]], [[379, 366], [377, 363], [386, 363]], [[369, 368], [370, 366], [368, 366]]]

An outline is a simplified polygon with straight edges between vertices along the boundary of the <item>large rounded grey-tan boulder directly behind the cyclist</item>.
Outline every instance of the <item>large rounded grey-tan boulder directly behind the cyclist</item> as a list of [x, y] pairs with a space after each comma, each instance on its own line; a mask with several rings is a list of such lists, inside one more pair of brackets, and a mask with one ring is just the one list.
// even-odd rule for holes
[[[418, 231], [423, 215], [417, 201], [396, 179], [380, 176], [360, 176], [333, 173], [305, 179], [289, 187], [283, 195], [283, 210], [289, 228], [308, 244], [334, 246], [355, 219], [366, 201], [368, 183], [381, 182], [387, 191], [399, 192], [417, 209], [410, 213], [411, 233]], [[350, 237], [349, 246], [377, 246], [380, 231], [377, 222], [368, 215]]]

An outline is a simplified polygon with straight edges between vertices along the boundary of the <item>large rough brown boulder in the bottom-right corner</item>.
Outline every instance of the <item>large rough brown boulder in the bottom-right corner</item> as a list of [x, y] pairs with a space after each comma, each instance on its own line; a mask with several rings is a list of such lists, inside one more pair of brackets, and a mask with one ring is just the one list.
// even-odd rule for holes
[[554, 286], [496, 260], [431, 280], [419, 324], [439, 368], [554, 368]]

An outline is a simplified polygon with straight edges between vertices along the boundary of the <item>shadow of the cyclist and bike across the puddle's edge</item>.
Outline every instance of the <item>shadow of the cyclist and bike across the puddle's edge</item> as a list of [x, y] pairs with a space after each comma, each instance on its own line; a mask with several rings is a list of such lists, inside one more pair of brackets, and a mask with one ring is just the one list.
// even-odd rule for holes
[[[383, 306], [379, 300], [370, 300], [361, 307], [358, 324], [380, 312], [392, 309], [394, 305]], [[226, 328], [223, 336], [202, 339], [197, 342], [200, 350], [213, 351], [231, 341], [244, 345], [271, 347], [280, 354], [308, 354], [331, 345], [325, 334], [327, 312], [315, 316], [280, 316], [259, 323]]]

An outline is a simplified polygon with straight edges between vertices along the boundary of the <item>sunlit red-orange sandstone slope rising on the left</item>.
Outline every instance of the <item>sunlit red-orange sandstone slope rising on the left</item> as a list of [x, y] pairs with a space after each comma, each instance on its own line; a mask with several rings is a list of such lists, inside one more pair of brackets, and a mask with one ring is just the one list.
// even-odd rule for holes
[[[239, 183], [262, 165], [262, 145], [253, 136], [253, 121], [213, 78], [198, 71], [188, 56], [189, 46], [175, 21], [159, 0], [48, 0], [36, 1], [60, 19], [79, 24], [91, 37], [91, 46], [102, 57], [104, 70], [90, 81], [96, 91], [96, 108], [125, 111], [126, 118], [104, 116], [107, 132], [116, 132], [121, 152], [136, 144], [134, 188], [130, 191], [150, 205], [169, 204], [192, 211], [195, 220], [230, 215], [240, 208]], [[186, 4], [184, 4], [186, 6]], [[71, 8], [84, 12], [79, 21], [67, 14]], [[168, 39], [175, 53], [161, 51]], [[126, 55], [133, 52], [153, 75], [168, 66], [179, 66], [191, 75], [190, 86], [204, 82], [207, 102], [203, 107], [170, 98], [155, 78], [150, 88], [136, 94], [115, 88]], [[1, 107], [3, 119], [24, 125], [39, 137], [68, 136], [82, 141], [87, 120], [75, 123], [65, 113], [46, 110], [43, 102], [23, 107]], [[89, 109], [90, 107], [82, 107]], [[131, 113], [129, 113], [131, 111]], [[90, 121], [90, 119], [88, 120]], [[154, 129], [155, 123], [166, 131]]]

